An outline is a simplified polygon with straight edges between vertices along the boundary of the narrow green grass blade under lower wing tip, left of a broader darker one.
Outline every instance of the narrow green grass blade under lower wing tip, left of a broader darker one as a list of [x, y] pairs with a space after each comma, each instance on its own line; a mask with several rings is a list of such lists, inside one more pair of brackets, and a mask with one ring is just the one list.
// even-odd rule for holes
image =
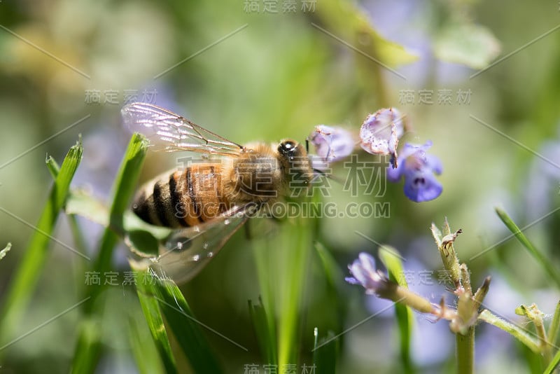
[[[153, 286], [151, 285], [151, 283], [153, 283], [153, 278], [146, 270], [137, 270], [136, 274], [138, 298], [153, 342], [155, 343], [155, 348], [158, 350], [163, 366], [165, 366], [165, 371], [167, 373], [177, 373], [175, 358], [172, 353], [171, 345], [169, 344], [165, 325], [163, 324], [160, 306], [153, 294]], [[133, 349], [133, 351], [139, 351], [139, 349], [141, 349], [141, 347], [137, 347]], [[143, 356], [139, 356], [138, 354], [135, 354], [135, 356], [137, 356], [137, 365], [140, 368], [144, 365], [144, 363], [141, 362], [143, 361]]]

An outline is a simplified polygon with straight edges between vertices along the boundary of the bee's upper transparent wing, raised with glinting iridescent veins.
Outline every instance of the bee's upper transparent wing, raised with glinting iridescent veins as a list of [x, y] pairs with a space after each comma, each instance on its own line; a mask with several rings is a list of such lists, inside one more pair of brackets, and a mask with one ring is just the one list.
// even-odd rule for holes
[[193, 151], [239, 155], [244, 147], [200, 127], [179, 114], [144, 102], [127, 104], [120, 111], [123, 123], [144, 134], [157, 151]]

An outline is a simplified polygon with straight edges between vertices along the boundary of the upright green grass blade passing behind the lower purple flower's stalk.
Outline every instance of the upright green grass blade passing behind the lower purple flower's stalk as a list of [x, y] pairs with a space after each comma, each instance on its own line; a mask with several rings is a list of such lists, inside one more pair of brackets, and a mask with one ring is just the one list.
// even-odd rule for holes
[[[408, 288], [407, 280], [402, 268], [401, 256], [393, 247], [379, 248], [379, 258], [388, 270], [389, 279], [397, 282], [400, 286]], [[412, 309], [401, 303], [395, 303], [395, 316], [397, 319], [400, 335], [400, 361], [405, 373], [413, 373], [412, 358], [410, 356], [410, 344], [412, 342], [412, 328], [414, 327], [414, 314]]]

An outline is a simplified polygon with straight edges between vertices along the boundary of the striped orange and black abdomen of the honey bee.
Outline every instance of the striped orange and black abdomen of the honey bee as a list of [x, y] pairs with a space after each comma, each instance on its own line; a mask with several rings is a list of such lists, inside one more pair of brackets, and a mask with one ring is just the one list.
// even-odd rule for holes
[[221, 188], [221, 165], [200, 164], [146, 183], [133, 210], [142, 220], [172, 228], [196, 226], [229, 208]]

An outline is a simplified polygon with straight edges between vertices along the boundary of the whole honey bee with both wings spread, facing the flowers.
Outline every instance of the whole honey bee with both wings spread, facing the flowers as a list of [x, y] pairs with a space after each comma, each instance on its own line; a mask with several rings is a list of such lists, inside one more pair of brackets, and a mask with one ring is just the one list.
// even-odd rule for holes
[[[154, 150], [202, 153], [200, 162], [148, 181], [133, 211], [155, 226], [174, 229], [157, 258], [165, 275], [185, 282], [197, 275], [259, 209], [305, 191], [314, 175], [307, 150], [292, 139], [245, 146], [153, 104], [127, 104], [123, 122]], [[221, 158], [210, 158], [218, 155]]]

